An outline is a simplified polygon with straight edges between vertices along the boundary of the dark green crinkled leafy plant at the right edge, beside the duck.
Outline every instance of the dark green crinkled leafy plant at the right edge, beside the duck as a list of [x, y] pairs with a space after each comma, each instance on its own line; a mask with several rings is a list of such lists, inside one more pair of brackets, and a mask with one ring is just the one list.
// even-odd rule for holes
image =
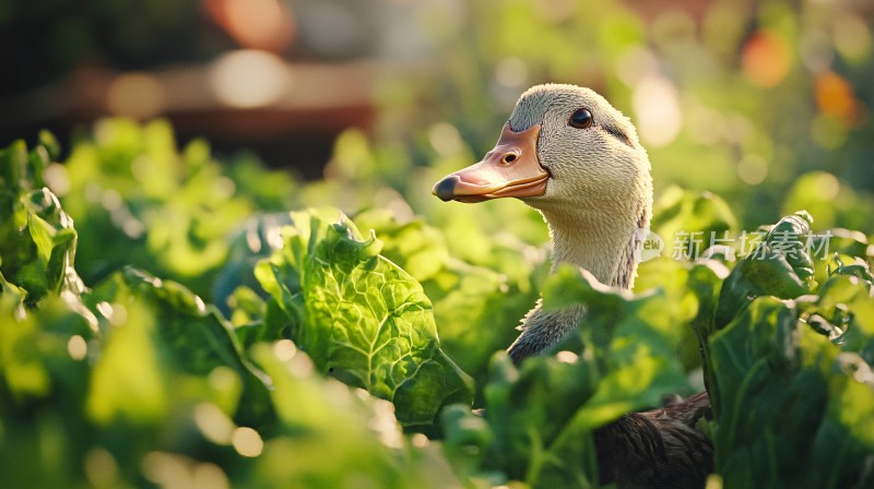
[[[729, 487], [874, 480], [864, 469], [874, 453], [874, 375], [860, 356], [874, 339], [872, 283], [835, 273], [818, 297], [806, 295], [816, 285], [804, 248], [811, 220], [796, 213], [770, 229], [723, 284], [714, 332], [702, 332], [717, 470]], [[848, 351], [841, 334], [859, 343]]]

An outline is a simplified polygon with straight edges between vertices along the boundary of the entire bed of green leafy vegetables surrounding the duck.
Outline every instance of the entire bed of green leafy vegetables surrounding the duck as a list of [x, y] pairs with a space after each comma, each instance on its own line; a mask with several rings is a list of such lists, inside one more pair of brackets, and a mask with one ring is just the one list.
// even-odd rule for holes
[[[723, 487], [872, 484], [862, 232], [813, 234], [796, 213], [736, 262], [723, 249], [641, 263], [634, 295], [570, 267], [546, 277], [531, 244], [542, 223], [521, 206], [418, 218], [389, 192], [355, 223], [276, 213], [294, 184], [260, 186], [251, 158], [223, 168], [204, 143], [179, 153], [162, 123], [98, 128], [66, 169], [47, 133], [0, 151], [4, 484], [597, 487], [594, 430], [705, 386]], [[344, 184], [386, 170], [362, 138], [339, 150]], [[175, 193], [144, 186], [140, 158]], [[59, 200], [45, 184], [64, 190], [64, 175]], [[233, 203], [200, 200], [226, 179]], [[339, 184], [295, 199], [330, 201]], [[656, 207], [662, 236], [736, 231], [714, 195], [670, 190]], [[126, 234], [132, 222], [142, 235]], [[544, 308], [586, 317], [556, 354], [517, 368], [503, 350], [539, 290]]]

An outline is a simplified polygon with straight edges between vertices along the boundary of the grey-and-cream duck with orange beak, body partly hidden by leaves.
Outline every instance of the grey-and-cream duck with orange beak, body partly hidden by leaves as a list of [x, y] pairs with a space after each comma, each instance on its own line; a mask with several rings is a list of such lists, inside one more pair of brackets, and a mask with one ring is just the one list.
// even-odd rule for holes
[[[442, 201], [515, 198], [543, 216], [552, 271], [571, 264], [630, 290], [635, 250], [652, 215], [650, 160], [630, 119], [597, 92], [569, 84], [525, 91], [495, 147], [434, 184]], [[583, 320], [584, 308], [544, 311], [539, 300], [507, 349], [519, 365], [548, 353]], [[627, 413], [593, 433], [601, 484], [621, 489], [702, 488], [713, 449], [701, 432], [706, 392]]]

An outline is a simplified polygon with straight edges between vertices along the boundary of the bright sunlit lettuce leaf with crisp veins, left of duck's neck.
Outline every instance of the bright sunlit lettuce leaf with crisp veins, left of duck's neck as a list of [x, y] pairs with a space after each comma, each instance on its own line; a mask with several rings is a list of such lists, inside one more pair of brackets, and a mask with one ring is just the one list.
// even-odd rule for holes
[[[336, 210], [293, 213], [285, 247], [256, 270], [291, 338], [322, 372], [391, 399], [404, 425], [434, 421], [471, 384], [440, 349], [422, 286]], [[281, 330], [282, 318], [265, 327]]]

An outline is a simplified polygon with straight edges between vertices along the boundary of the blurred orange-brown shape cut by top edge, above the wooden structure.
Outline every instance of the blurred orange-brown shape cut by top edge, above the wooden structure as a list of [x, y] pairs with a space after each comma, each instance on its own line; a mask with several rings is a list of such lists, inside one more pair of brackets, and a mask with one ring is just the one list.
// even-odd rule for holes
[[294, 40], [294, 16], [280, 0], [203, 0], [203, 5], [243, 47], [280, 52]]

